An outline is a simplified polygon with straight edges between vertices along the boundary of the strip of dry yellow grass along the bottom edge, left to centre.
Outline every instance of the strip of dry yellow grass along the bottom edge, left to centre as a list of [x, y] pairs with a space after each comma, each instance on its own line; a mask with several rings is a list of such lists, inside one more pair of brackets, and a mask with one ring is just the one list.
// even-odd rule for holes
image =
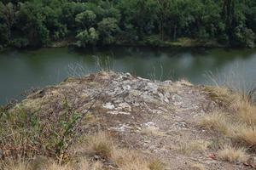
[[[85, 137], [85, 144], [74, 147], [73, 156], [78, 159], [60, 165], [55, 161], [38, 162], [40, 166], [34, 167], [34, 162], [9, 161], [3, 170], [103, 170], [104, 160], [113, 162], [113, 165], [122, 170], [164, 170], [165, 165], [158, 159], [146, 156], [138, 150], [120, 148], [108, 133], [96, 133]], [[91, 156], [99, 156], [99, 161], [93, 161]], [[102, 161], [101, 161], [102, 160]]]

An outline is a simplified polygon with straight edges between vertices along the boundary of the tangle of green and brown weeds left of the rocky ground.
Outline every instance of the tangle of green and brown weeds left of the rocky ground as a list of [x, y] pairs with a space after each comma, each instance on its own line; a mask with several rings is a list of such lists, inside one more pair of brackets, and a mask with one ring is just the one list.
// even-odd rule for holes
[[32, 158], [36, 155], [51, 156], [60, 161], [67, 158], [68, 147], [79, 138], [77, 127], [83, 117], [67, 105], [67, 99], [62, 107], [58, 116], [25, 111], [22, 105], [17, 105], [11, 112], [0, 108], [2, 158]]

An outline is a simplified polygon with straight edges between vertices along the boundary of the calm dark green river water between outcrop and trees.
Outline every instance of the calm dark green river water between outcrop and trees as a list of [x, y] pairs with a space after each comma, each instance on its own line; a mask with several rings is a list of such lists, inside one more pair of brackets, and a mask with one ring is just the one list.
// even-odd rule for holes
[[211, 71], [216, 79], [234, 83], [256, 82], [256, 49], [102, 48], [72, 50], [41, 48], [0, 54], [0, 105], [29, 88], [61, 82], [68, 76], [97, 71], [98, 65], [140, 77], [185, 77], [206, 84]]

